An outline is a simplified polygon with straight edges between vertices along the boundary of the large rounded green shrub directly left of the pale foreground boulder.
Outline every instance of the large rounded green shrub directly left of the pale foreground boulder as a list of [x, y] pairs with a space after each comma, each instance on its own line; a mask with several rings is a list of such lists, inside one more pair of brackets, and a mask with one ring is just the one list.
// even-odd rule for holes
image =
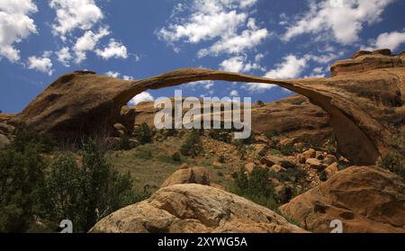
[[74, 230], [87, 231], [112, 211], [144, 199], [132, 190], [130, 174], [121, 175], [94, 142], [85, 145], [80, 165], [71, 155], [57, 157], [41, 191], [43, 217], [72, 220]]

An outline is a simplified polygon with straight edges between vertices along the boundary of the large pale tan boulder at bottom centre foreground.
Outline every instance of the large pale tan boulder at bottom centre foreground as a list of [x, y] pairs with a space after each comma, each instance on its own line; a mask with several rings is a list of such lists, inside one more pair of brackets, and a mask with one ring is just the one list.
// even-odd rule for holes
[[113, 212], [94, 233], [302, 233], [282, 216], [201, 184], [160, 189], [148, 201]]

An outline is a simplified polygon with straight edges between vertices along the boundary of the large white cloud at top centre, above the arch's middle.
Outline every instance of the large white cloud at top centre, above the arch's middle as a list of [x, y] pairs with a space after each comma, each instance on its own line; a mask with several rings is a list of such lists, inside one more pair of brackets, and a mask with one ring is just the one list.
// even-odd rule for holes
[[189, 15], [174, 19], [157, 31], [157, 36], [170, 44], [213, 41], [209, 48], [198, 52], [199, 57], [245, 53], [269, 36], [266, 29], [257, 27], [256, 20], [249, 17], [249, 8], [256, 3], [257, 0], [193, 0], [187, 7], [182, 4], [181, 8], [175, 8], [174, 15], [184, 10], [189, 10]]

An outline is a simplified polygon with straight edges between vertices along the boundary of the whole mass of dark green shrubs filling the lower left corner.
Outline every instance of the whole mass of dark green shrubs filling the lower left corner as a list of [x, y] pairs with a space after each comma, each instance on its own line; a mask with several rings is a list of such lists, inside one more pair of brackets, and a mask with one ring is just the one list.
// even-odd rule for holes
[[52, 142], [49, 135], [21, 128], [0, 151], [0, 232], [56, 231], [65, 219], [76, 232], [87, 231], [148, 196], [132, 189], [130, 174], [116, 172], [94, 141], [79, 153], [57, 156], [49, 155]]

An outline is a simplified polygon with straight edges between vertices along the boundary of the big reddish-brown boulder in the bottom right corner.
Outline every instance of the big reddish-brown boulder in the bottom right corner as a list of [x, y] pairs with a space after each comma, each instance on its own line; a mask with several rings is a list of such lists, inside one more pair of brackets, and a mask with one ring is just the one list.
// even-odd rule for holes
[[405, 232], [405, 184], [381, 168], [352, 166], [280, 210], [313, 232], [330, 232], [332, 220], [345, 233]]

